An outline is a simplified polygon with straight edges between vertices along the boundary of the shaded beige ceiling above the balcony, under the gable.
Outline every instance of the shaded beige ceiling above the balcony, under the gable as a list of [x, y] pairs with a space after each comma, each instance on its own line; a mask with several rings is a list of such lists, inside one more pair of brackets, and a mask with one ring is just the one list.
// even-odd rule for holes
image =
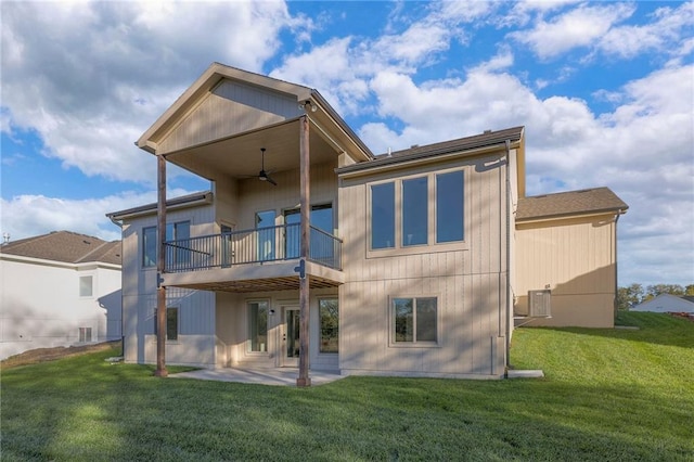
[[[311, 164], [334, 162], [338, 150], [320, 129], [309, 128]], [[269, 172], [299, 168], [299, 119], [242, 133], [166, 154], [166, 159], [203, 178], [250, 178], [261, 166], [260, 147], [266, 149], [265, 169]]]

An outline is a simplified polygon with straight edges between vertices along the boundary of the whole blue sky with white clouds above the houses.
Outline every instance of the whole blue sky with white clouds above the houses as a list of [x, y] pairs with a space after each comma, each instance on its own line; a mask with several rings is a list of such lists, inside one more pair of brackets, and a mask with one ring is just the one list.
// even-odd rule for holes
[[[318, 89], [372, 151], [526, 127], [528, 194], [609, 187], [619, 283], [694, 283], [692, 2], [12, 2], [1, 223], [119, 238], [133, 142], [211, 62]], [[169, 196], [206, 189], [170, 169]]]

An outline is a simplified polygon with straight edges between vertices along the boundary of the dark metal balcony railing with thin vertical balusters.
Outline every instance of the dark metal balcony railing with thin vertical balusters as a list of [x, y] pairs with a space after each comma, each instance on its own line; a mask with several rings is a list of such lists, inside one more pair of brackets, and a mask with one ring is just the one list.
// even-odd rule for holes
[[[342, 269], [343, 241], [310, 227], [308, 259]], [[299, 223], [232, 231], [164, 243], [166, 272], [229, 268], [233, 265], [264, 264], [299, 258]]]

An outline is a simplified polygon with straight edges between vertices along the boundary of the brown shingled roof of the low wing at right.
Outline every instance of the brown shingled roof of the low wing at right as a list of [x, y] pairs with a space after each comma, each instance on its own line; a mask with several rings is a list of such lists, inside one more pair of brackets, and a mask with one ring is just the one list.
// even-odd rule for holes
[[609, 188], [592, 188], [554, 194], [520, 197], [516, 221], [561, 218], [600, 213], [624, 214], [629, 206]]

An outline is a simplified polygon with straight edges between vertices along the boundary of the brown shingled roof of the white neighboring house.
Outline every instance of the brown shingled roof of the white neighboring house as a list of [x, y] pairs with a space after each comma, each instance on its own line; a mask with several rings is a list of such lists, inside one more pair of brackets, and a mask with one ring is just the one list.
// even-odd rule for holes
[[0, 246], [1, 254], [68, 264], [121, 264], [120, 241], [106, 242], [72, 231], [53, 231]]

